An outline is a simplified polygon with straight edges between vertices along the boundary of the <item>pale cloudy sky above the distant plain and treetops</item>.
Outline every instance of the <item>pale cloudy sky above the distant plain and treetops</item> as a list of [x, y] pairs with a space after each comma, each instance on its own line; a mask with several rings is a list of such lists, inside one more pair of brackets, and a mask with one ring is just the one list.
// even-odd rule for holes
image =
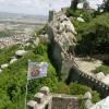
[[[89, 1], [90, 5], [96, 8], [102, 0]], [[50, 9], [60, 10], [70, 4], [71, 0], [0, 0], [0, 12], [47, 15]]]

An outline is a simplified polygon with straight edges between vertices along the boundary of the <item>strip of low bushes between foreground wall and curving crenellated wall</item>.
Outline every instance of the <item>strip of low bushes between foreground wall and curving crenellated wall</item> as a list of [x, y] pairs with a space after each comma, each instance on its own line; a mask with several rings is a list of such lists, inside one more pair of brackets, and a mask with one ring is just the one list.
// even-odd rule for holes
[[90, 87], [87, 87], [78, 83], [71, 83], [69, 86], [64, 83], [59, 83], [58, 90], [56, 93], [75, 95], [78, 98], [83, 99], [83, 96], [86, 92], [92, 93], [94, 104], [100, 100], [100, 95], [96, 90], [92, 90]]

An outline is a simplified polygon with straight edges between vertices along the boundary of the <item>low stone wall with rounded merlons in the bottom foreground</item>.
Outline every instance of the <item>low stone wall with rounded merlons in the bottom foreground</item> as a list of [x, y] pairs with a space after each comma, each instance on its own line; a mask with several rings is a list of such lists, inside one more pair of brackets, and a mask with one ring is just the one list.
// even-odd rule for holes
[[27, 109], [78, 109], [80, 100], [71, 95], [50, 94], [48, 87], [43, 87], [40, 93], [27, 102]]

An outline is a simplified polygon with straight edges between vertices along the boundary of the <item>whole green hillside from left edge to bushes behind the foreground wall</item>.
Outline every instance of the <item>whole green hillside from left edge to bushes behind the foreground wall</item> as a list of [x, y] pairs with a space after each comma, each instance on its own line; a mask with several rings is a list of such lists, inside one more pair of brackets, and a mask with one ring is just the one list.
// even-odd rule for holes
[[[8, 62], [10, 57], [12, 57], [17, 49], [20, 49], [17, 45], [2, 49], [0, 53], [0, 58], [2, 58], [1, 63]], [[73, 94], [80, 95], [81, 97], [85, 92], [90, 90], [93, 94], [93, 101], [96, 102], [99, 100], [99, 94], [93, 92], [87, 86], [81, 84], [71, 84], [66, 86], [65, 83], [59, 82], [57, 72], [49, 62], [47, 49], [48, 47], [46, 44], [39, 44], [39, 46], [35, 48], [26, 48], [28, 52], [24, 57], [20, 58], [13, 64], [10, 64], [0, 73], [0, 109], [24, 109], [28, 59], [37, 62], [47, 61], [49, 68], [47, 77], [29, 81], [27, 99], [32, 99], [41, 86], [49, 86], [52, 93]], [[8, 53], [8, 57], [5, 53]], [[77, 89], [81, 89], [81, 92], [76, 92]]]

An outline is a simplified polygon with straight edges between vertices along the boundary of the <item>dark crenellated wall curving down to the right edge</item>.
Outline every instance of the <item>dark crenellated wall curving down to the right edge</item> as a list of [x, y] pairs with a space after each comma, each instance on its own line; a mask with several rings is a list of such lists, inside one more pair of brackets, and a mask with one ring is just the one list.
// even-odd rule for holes
[[[77, 76], [77, 80], [72, 78], [72, 81], [77, 81], [80, 83], [86, 84], [87, 86], [96, 89], [101, 94], [102, 97], [109, 96], [109, 85], [102, 83], [100, 80], [96, 78], [94, 74], [84, 73], [76, 68], [74, 76]], [[73, 72], [72, 72], [73, 73]]]

